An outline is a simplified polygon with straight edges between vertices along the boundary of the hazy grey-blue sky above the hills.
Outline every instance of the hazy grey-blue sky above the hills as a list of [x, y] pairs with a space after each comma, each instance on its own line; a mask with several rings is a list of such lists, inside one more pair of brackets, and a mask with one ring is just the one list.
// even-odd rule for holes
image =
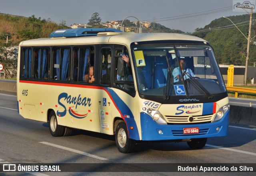
[[[170, 29], [194, 32], [233, 11], [235, 0], [0, 0], [0, 13], [49, 19], [66, 25], [86, 24], [97, 12], [101, 22], [130, 20], [156, 22]], [[244, 1], [244, 0], [240, 0]], [[256, 0], [249, 0], [255, 4]], [[134, 18], [136, 17], [136, 18]], [[227, 20], [227, 25], [230, 21]]]

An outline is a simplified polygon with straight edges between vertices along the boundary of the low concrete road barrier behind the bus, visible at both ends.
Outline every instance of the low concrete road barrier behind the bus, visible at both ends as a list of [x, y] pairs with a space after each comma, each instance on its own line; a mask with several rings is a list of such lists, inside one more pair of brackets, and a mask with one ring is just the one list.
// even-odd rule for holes
[[[16, 81], [0, 80], [0, 90], [16, 93]], [[229, 122], [233, 124], [256, 125], [256, 108], [230, 106]]]

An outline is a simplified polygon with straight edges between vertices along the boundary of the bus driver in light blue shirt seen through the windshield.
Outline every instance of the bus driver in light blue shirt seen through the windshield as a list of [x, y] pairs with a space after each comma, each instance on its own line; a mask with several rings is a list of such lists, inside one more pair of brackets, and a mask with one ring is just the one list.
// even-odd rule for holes
[[[184, 74], [184, 80], [188, 79], [189, 76], [187, 74], [189, 74], [191, 77], [195, 77], [194, 73], [192, 72], [192, 70], [190, 68], [186, 69], [186, 61], [184, 60], [184, 58], [179, 58], [179, 63], [180, 63], [180, 68], [182, 70], [182, 74], [184, 74], [184, 72], [186, 74]], [[174, 68], [172, 75], [174, 78], [174, 82], [178, 82], [178, 81], [182, 81], [182, 75], [180, 74], [180, 68], [176, 67]]]

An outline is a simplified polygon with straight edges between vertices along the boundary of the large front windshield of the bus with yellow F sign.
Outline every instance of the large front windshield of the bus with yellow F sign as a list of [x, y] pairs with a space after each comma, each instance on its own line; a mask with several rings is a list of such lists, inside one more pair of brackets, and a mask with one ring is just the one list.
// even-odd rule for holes
[[226, 91], [208, 45], [136, 45], [132, 54], [143, 95], [212, 98]]

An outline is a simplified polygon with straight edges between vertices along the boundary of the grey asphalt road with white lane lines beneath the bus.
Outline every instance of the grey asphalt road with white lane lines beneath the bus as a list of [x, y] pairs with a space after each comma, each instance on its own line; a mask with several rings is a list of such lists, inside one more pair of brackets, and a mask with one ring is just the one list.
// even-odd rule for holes
[[[27, 120], [18, 114], [16, 96], [0, 94], [0, 167], [24, 163], [82, 163], [74, 167], [90, 167], [90, 170], [86, 173], [0, 172], [0, 175], [255, 175], [256, 126], [230, 124], [228, 136], [208, 138], [206, 146], [200, 150], [191, 150], [186, 142], [141, 143], [136, 152], [122, 154], [118, 152], [113, 136], [75, 130], [72, 136], [52, 137], [47, 123]], [[110, 167], [108, 172], [97, 172], [107, 167], [106, 163], [121, 165], [114, 165], [118, 166], [114, 169]], [[134, 163], [140, 164], [136, 164], [137, 167], [129, 165]], [[159, 172], [161, 167], [176, 167], [173, 163], [183, 163], [184, 166], [194, 163], [198, 164], [198, 169], [207, 163], [237, 163], [252, 166], [254, 172]], [[154, 170], [154, 166], [158, 168]]]

